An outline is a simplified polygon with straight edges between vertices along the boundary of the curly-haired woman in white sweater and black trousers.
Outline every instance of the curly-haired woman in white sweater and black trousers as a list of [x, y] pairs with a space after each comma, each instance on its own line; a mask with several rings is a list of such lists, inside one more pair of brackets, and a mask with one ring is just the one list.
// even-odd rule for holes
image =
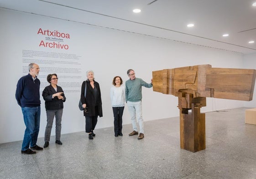
[[114, 113], [114, 131], [115, 137], [123, 136], [122, 134], [122, 116], [125, 108], [125, 87], [122, 85], [121, 77], [116, 76], [113, 79], [113, 87], [110, 88], [110, 100]]

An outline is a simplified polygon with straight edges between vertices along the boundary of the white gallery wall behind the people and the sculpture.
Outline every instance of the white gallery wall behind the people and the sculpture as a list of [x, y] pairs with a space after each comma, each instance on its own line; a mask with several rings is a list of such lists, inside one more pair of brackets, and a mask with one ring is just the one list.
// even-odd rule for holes
[[[82, 84], [86, 79], [85, 73], [89, 69], [94, 71], [95, 80], [100, 84], [103, 102], [103, 117], [98, 118], [96, 128], [105, 128], [113, 126], [113, 112], [110, 104], [110, 87], [113, 77], [118, 75], [125, 82], [128, 80], [126, 71], [130, 68], [135, 70], [136, 77], [150, 82], [152, 71], [166, 68], [203, 64], [223, 68], [249, 66], [249, 64], [243, 64], [243, 56], [240, 53], [1, 8], [0, 24], [0, 82], [2, 84], [0, 87], [0, 143], [23, 140], [25, 124], [21, 107], [18, 106], [15, 99], [15, 91], [17, 81], [24, 74], [24, 70], [26, 71], [26, 66], [28, 65], [26, 58], [22, 55], [24, 50], [66, 55], [73, 54], [78, 57], [74, 60], [75, 69], [79, 72], [78, 76], [73, 78], [75, 84], [73, 88], [67, 85], [67, 80], [69, 80], [69, 84], [72, 84], [70, 82], [72, 78], [68, 78], [68, 73], [66, 75], [57, 73], [59, 77], [58, 84], [63, 87], [67, 97], [63, 110], [62, 134], [84, 131], [85, 129], [83, 113], [78, 109], [80, 88], [77, 87], [77, 84]], [[65, 40], [65, 43], [68, 44], [68, 50], [39, 46], [43, 38], [42, 35], [37, 34], [40, 28], [68, 33], [70, 39]], [[28, 59], [31, 60], [31, 58]], [[60, 63], [51, 65], [51, 63], [46, 64], [44, 58], [37, 57], [35, 59], [36, 62], [39, 61], [37, 63], [41, 69], [38, 76], [41, 81], [41, 91], [46, 85], [49, 85], [46, 82], [46, 75], [55, 73], [55, 71], [50, 72], [49, 69], [58, 70], [64, 67], [74, 69], [73, 64]], [[50, 57], [47, 57], [47, 59], [50, 59]], [[40, 61], [42, 61], [41, 64]], [[31, 62], [34, 61], [31, 60]], [[256, 68], [256, 65], [254, 68]], [[72, 72], [70, 75], [74, 75], [74, 73]], [[42, 104], [39, 137], [44, 137], [46, 113], [42, 92], [40, 95]], [[145, 121], [179, 116], [178, 97], [153, 92], [152, 88], [145, 87], [142, 88], [142, 96], [143, 118]], [[207, 106], [201, 108], [201, 111], [209, 112], [243, 106], [243, 101], [207, 98]], [[130, 123], [130, 116], [127, 107], [125, 107], [123, 124]], [[55, 127], [52, 128], [52, 135], [55, 135]], [[51, 140], [54, 139], [55, 137], [53, 136]]]

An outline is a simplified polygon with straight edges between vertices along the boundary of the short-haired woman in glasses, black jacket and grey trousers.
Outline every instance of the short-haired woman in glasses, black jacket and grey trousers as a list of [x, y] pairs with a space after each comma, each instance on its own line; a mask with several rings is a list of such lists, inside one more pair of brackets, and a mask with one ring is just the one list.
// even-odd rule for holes
[[47, 76], [47, 82], [51, 83], [49, 86], [45, 87], [42, 92], [42, 97], [45, 100], [45, 109], [47, 115], [47, 125], [45, 128], [44, 134], [44, 148], [49, 146], [51, 131], [52, 131], [52, 123], [55, 116], [56, 122], [56, 137], [55, 143], [62, 145], [60, 141], [60, 133], [61, 133], [61, 120], [63, 113], [63, 102], [66, 101], [66, 97], [63, 93], [61, 87], [57, 86], [58, 77], [57, 74], [49, 74]]

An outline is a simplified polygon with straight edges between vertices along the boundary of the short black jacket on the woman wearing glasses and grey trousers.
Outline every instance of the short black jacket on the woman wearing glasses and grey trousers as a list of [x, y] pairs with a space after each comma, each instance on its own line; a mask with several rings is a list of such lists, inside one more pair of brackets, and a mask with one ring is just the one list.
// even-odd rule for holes
[[[57, 86], [57, 92], [63, 92], [62, 88]], [[49, 85], [44, 88], [44, 90], [42, 92], [42, 97], [45, 100], [45, 109], [46, 110], [63, 109], [63, 102], [66, 101], [66, 97], [63, 93], [62, 96], [64, 97], [64, 100], [58, 99], [58, 97], [52, 98], [52, 95], [55, 93], [56, 93], [56, 91], [52, 87], [52, 85]]]

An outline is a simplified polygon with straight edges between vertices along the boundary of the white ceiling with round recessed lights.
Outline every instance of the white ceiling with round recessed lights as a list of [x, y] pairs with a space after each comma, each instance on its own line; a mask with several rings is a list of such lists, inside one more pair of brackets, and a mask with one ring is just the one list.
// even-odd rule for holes
[[[256, 0], [0, 0], [0, 7], [198, 46], [256, 53]], [[133, 9], [141, 9], [135, 14]], [[188, 28], [187, 24], [195, 26]], [[223, 37], [228, 33], [230, 36]], [[255, 41], [249, 44], [249, 41]]]

